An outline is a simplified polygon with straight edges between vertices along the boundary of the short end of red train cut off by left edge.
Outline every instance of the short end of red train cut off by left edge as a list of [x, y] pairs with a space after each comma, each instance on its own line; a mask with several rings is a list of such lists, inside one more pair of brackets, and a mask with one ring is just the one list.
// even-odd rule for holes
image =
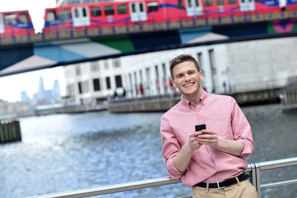
[[35, 34], [28, 10], [0, 12], [0, 38]]

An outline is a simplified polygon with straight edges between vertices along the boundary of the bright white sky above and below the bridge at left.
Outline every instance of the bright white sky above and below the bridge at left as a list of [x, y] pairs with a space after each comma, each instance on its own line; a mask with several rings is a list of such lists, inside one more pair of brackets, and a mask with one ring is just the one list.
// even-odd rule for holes
[[[55, 0], [0, 0], [0, 11], [29, 10], [35, 30], [40, 31], [44, 25], [45, 8], [55, 7]], [[65, 95], [65, 78], [63, 67], [55, 67], [0, 77], [0, 99], [9, 102], [20, 101], [21, 91], [27, 91], [30, 98], [38, 92], [39, 76], [44, 78], [45, 89], [52, 89], [53, 81], [60, 84], [61, 95]]]

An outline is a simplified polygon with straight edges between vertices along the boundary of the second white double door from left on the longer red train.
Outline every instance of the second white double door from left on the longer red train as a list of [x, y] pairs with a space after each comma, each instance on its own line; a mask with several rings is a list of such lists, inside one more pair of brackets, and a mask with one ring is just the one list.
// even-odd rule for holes
[[145, 2], [130, 2], [130, 19], [132, 22], [148, 20]]

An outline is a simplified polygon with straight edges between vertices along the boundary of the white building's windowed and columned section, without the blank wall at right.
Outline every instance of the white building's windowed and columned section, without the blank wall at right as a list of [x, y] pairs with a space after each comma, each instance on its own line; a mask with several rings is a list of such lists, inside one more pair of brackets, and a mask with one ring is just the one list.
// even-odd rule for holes
[[[228, 84], [226, 45], [201, 46], [153, 52], [64, 67], [68, 104], [94, 104], [125, 90], [126, 97], [170, 94], [170, 61], [190, 54], [200, 63], [202, 87], [208, 92], [223, 92]], [[220, 60], [219, 63], [216, 60]], [[142, 85], [142, 86], [141, 86]], [[142, 87], [142, 88], [141, 88]]]

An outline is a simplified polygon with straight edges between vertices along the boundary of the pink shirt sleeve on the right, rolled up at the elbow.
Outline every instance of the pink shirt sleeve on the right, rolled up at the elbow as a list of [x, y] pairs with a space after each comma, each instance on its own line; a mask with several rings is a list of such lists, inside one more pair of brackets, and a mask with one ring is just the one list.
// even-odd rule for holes
[[251, 156], [251, 153], [254, 149], [251, 128], [247, 118], [234, 98], [232, 98], [231, 125], [234, 139], [242, 142], [244, 146], [244, 150], [240, 157], [245, 158]]

